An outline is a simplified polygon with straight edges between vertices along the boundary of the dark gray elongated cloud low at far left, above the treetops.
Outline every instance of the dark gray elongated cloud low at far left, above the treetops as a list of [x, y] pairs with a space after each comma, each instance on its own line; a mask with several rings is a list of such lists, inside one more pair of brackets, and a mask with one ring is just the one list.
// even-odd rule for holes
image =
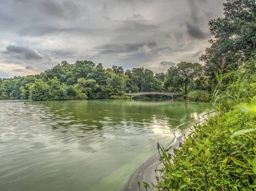
[[8, 55], [9, 57], [16, 57], [17, 59], [24, 60], [42, 60], [38, 53], [28, 46], [15, 46], [9, 45], [6, 47], [6, 51], [2, 51], [2, 54]]

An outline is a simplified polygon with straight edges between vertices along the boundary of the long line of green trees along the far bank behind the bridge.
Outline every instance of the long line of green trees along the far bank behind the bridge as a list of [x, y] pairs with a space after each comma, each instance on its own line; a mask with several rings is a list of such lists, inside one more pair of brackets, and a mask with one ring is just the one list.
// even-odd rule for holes
[[205, 67], [199, 63], [181, 62], [166, 74], [154, 74], [144, 68], [105, 69], [102, 63], [96, 65], [87, 60], [74, 64], [63, 61], [41, 74], [0, 78], [0, 99], [124, 99], [129, 92], [207, 90], [207, 81]]

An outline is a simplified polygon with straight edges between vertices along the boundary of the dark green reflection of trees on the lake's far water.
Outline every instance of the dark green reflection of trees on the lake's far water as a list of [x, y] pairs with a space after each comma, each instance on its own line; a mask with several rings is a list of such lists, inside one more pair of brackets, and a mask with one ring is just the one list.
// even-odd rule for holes
[[[172, 100], [90, 100], [40, 102], [42, 118], [55, 131], [73, 137], [89, 137], [107, 129], [118, 131], [130, 127], [143, 128], [153, 120], [168, 121], [170, 127], [194, 121], [192, 113], [201, 113], [206, 104]], [[122, 131], [121, 131], [122, 132]], [[103, 139], [103, 138], [102, 138]]]

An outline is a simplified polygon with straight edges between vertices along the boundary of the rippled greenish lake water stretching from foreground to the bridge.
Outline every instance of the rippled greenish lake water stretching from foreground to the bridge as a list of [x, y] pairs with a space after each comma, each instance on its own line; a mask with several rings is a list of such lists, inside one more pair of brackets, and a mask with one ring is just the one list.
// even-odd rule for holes
[[0, 102], [0, 191], [121, 191], [210, 108], [179, 100]]

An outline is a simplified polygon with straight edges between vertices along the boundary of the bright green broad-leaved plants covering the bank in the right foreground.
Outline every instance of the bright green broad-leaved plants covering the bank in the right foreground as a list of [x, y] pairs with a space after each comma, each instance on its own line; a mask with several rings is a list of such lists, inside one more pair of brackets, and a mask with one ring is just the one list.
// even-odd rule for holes
[[[159, 191], [255, 190], [255, 126], [250, 113], [236, 108], [195, 126], [174, 154], [160, 146], [163, 153], [160, 160], [165, 168], [159, 170], [163, 172], [163, 181], [156, 188]], [[244, 134], [246, 131], [249, 133]]]

